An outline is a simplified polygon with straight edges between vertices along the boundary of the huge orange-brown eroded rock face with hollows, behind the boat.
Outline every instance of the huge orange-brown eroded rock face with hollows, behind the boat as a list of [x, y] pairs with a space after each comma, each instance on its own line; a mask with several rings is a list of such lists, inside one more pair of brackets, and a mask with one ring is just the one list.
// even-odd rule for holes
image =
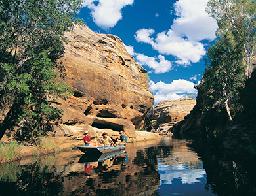
[[64, 82], [74, 96], [54, 103], [64, 113], [55, 130], [72, 133], [95, 127], [135, 134], [154, 104], [146, 70], [135, 63], [119, 37], [94, 33], [86, 26], [76, 26], [66, 37], [70, 42], [62, 58]]

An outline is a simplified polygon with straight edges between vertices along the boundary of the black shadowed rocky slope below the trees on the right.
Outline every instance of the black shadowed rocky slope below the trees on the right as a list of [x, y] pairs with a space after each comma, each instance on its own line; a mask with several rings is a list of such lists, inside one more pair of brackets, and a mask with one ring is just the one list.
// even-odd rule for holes
[[[207, 138], [222, 148], [231, 150], [238, 154], [256, 156], [256, 72], [245, 82], [244, 88], [240, 90], [240, 112], [234, 116], [234, 121], [229, 123], [225, 119], [217, 123], [213, 112], [207, 116], [203, 114], [205, 107], [204, 94], [198, 94], [196, 105], [193, 110], [184, 117], [184, 120], [173, 125], [171, 132], [174, 135], [207, 135]], [[209, 126], [205, 126], [205, 122]], [[225, 123], [226, 122], [226, 123]]]

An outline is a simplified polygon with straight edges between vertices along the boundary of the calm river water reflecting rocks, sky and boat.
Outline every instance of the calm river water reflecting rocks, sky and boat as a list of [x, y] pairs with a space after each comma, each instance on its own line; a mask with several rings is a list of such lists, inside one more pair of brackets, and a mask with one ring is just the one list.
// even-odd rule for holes
[[192, 146], [165, 137], [115, 155], [22, 159], [0, 165], [0, 195], [256, 195], [252, 161]]

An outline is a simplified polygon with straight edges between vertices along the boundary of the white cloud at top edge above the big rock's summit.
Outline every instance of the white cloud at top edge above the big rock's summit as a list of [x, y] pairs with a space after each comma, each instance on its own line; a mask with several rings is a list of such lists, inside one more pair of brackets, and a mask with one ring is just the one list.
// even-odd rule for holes
[[121, 9], [132, 4], [133, 0], [85, 0], [83, 7], [91, 10], [91, 16], [96, 25], [108, 29], [121, 20]]

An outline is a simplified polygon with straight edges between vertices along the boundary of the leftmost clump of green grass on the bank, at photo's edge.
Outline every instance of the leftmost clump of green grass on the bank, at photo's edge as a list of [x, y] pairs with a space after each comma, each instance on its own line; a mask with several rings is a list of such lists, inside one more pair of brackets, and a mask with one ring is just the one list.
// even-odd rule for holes
[[0, 163], [7, 163], [21, 158], [20, 150], [22, 144], [10, 142], [9, 144], [0, 144]]

